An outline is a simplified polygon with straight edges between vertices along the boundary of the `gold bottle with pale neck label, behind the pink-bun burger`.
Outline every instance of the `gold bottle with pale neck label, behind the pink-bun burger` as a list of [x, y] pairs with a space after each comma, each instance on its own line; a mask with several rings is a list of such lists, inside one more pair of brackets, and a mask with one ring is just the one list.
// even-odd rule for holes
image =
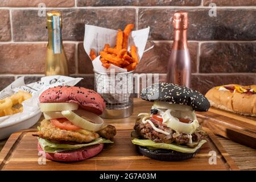
[[46, 53], [46, 76], [68, 75], [67, 56], [61, 38], [61, 14], [47, 12], [48, 44]]

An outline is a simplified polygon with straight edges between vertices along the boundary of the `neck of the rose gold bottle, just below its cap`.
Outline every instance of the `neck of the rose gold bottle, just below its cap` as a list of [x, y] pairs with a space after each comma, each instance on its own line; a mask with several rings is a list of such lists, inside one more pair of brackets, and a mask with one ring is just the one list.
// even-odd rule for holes
[[174, 29], [174, 50], [188, 49], [187, 43], [187, 29]]

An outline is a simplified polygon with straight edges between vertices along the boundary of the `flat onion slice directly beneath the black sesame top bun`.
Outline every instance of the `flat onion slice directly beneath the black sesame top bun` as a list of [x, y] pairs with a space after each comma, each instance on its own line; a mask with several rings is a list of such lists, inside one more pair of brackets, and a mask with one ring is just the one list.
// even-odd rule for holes
[[162, 102], [162, 101], [154, 101], [154, 107], [160, 109], [171, 109], [171, 110], [187, 110], [192, 111], [191, 106], [181, 105], [181, 104], [172, 104], [169, 102]]

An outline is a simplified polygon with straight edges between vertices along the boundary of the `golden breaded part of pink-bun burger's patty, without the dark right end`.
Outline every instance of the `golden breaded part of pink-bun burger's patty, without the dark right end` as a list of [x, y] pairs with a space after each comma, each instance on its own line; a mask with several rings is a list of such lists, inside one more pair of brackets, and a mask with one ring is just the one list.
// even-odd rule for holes
[[73, 130], [61, 130], [47, 119], [41, 122], [40, 129], [37, 133], [38, 137], [48, 140], [88, 143], [100, 137], [97, 133], [87, 130], [86, 134]]

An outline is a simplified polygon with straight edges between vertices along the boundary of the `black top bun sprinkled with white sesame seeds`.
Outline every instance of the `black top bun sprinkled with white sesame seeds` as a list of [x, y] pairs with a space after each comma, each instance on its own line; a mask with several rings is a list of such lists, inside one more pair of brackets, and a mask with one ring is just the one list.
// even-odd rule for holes
[[142, 90], [141, 98], [146, 101], [163, 101], [191, 106], [196, 111], [208, 111], [210, 103], [200, 92], [185, 86], [160, 82]]

